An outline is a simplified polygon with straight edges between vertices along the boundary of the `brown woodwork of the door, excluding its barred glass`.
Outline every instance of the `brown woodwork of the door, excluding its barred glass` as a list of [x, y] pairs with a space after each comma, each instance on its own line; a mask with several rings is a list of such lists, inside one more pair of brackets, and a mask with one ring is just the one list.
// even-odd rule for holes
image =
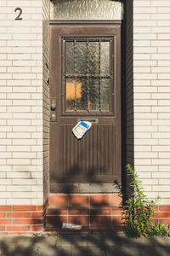
[[[120, 27], [54, 26], [51, 36], [50, 97], [56, 101], [56, 119], [50, 124], [51, 188], [57, 183], [113, 183], [115, 179], [121, 181]], [[88, 40], [89, 36], [96, 37], [97, 40], [102, 37], [113, 38], [114, 44], [111, 43], [110, 50], [111, 77], [109, 77], [111, 108], [108, 113], [87, 111], [81, 114], [77, 109], [72, 113], [65, 111], [67, 75], [63, 61], [65, 44], [62, 40], [71, 37], [74, 40], [75, 37], [76, 40], [79, 37], [85, 40], [86, 36]], [[77, 81], [77, 73], [72, 76]], [[83, 78], [88, 79], [88, 74]], [[98, 79], [102, 79], [100, 73]], [[79, 119], [97, 120], [81, 140], [77, 140], [71, 131]]]

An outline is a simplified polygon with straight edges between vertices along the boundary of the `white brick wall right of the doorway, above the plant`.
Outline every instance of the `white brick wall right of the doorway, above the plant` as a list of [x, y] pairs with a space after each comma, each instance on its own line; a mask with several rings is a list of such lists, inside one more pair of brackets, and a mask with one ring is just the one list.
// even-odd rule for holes
[[150, 198], [169, 204], [170, 1], [133, 1], [134, 165]]

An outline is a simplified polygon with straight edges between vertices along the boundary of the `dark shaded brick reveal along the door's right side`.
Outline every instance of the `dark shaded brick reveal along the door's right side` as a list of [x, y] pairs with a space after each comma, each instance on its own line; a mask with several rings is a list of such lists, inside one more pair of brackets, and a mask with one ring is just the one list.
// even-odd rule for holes
[[134, 164], [133, 132], [133, 0], [122, 1], [122, 195], [125, 201], [131, 190], [125, 172], [127, 164]]

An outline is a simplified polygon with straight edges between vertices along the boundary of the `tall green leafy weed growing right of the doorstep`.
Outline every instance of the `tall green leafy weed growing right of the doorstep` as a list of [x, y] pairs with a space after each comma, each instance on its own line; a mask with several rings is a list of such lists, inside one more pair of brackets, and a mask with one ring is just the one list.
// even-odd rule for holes
[[144, 195], [142, 183], [139, 181], [139, 176], [133, 166], [128, 164], [126, 170], [127, 175], [131, 178], [130, 187], [133, 192], [123, 207], [125, 234], [129, 237], [150, 236], [152, 234], [154, 206], [156, 206], [159, 197], [156, 197], [154, 201], [149, 201]]

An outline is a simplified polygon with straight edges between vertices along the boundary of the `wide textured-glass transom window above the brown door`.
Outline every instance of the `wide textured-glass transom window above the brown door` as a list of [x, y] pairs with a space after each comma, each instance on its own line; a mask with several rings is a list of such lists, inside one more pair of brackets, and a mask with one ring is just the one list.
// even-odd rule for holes
[[122, 19], [122, 3], [117, 0], [53, 0], [52, 4], [51, 20]]

